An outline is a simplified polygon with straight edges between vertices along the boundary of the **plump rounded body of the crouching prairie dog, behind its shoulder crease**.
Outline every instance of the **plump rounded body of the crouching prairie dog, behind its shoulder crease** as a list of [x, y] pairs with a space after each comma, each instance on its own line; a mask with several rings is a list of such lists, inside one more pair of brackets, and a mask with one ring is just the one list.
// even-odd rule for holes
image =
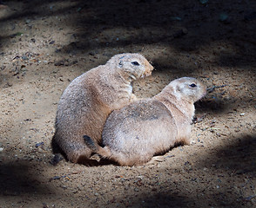
[[174, 146], [176, 135], [172, 114], [161, 102], [148, 99], [114, 111], [105, 123], [102, 138], [111, 151], [110, 159], [122, 166], [134, 166], [156, 153], [165, 153], [166, 148]]

